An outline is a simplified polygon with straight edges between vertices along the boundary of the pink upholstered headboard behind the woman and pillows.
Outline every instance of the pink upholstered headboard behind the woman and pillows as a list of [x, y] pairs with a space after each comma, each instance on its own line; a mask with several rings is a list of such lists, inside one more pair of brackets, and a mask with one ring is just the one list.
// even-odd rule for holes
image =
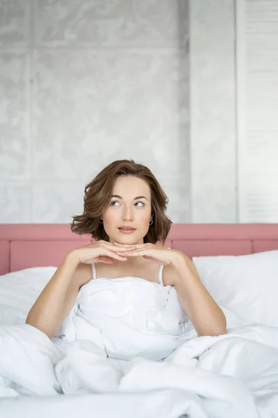
[[[90, 242], [67, 224], [0, 224], [0, 274], [57, 266], [68, 251]], [[165, 247], [190, 258], [278, 249], [278, 224], [172, 224]]]

